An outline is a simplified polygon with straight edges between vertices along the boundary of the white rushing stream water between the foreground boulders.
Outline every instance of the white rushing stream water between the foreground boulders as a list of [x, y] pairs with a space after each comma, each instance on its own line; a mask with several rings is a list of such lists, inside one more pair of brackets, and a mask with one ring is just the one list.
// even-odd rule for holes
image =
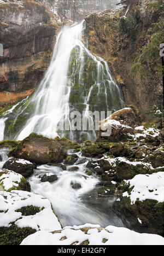
[[[114, 199], [105, 199], [106, 207], [103, 207], [108, 209], [107, 212], [102, 209], [102, 197], [98, 199], [97, 194], [95, 196], [91, 193], [98, 183], [98, 179], [85, 174], [86, 164], [87, 162], [78, 165], [79, 170], [75, 172], [68, 171], [70, 166], [67, 167], [67, 171], [63, 171], [56, 166], [39, 166], [30, 178], [32, 192], [43, 195], [50, 200], [62, 226], [82, 225], [85, 223], [100, 224], [104, 227], [109, 224], [124, 226], [121, 219], [111, 210]], [[40, 178], [45, 173], [55, 173], [58, 181], [54, 183], [40, 182]], [[78, 190], [73, 189], [71, 187], [72, 182], [80, 183], [81, 188]], [[84, 200], [85, 195], [88, 197], [87, 200]], [[91, 196], [94, 203], [89, 201]]]

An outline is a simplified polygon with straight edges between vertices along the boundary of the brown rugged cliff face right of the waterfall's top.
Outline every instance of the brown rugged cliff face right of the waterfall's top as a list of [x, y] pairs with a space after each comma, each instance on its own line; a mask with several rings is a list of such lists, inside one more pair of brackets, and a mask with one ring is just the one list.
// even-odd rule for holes
[[151, 38], [151, 24], [159, 18], [157, 11], [149, 8], [152, 2], [155, 1], [134, 0], [128, 6], [127, 15], [137, 22], [134, 37], [119, 30], [119, 20], [126, 13], [124, 8], [93, 13], [85, 19], [90, 50], [109, 62], [122, 86], [126, 104], [138, 107], [143, 117], [148, 106], [162, 102], [162, 78], [149, 75], [145, 79], [132, 79], [129, 75], [136, 56]]

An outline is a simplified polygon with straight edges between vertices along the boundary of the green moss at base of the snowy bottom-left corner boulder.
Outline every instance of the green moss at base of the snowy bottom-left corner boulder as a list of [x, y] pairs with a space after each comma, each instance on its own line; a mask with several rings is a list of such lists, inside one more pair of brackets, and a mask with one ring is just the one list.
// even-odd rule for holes
[[27, 237], [34, 234], [37, 230], [32, 228], [19, 228], [12, 224], [9, 228], [0, 227], [0, 245], [20, 245]]

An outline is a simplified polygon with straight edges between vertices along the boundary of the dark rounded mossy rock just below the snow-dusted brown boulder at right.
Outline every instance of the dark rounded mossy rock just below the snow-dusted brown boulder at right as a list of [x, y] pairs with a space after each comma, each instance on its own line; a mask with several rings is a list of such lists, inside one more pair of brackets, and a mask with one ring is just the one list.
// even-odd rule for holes
[[127, 158], [130, 158], [133, 155], [133, 152], [131, 151], [131, 149], [125, 143], [122, 143], [122, 142], [112, 147], [109, 153], [114, 155], [115, 157], [125, 156]]

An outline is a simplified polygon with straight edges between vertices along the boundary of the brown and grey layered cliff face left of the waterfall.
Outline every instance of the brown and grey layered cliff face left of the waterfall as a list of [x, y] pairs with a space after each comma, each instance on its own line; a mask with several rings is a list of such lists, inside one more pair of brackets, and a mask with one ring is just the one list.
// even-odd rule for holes
[[33, 0], [0, 1], [0, 104], [13, 104], [31, 94], [48, 68], [58, 15]]

